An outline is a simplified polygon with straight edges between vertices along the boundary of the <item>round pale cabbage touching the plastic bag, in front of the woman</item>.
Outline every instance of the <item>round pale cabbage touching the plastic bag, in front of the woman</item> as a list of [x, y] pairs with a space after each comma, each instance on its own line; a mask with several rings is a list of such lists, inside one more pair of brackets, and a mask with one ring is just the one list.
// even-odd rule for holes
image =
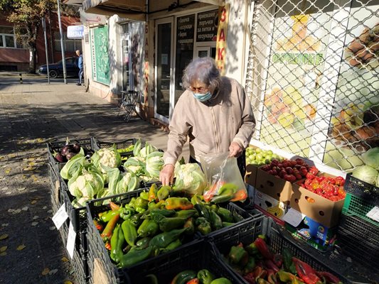
[[197, 163], [175, 165], [174, 190], [185, 191], [189, 194], [203, 195], [207, 185], [205, 175]]

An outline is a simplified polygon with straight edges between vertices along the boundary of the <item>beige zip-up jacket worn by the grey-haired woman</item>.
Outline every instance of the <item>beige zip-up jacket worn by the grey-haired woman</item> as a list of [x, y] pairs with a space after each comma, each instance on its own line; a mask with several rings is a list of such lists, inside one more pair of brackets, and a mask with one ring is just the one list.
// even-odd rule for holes
[[246, 148], [255, 130], [255, 118], [242, 86], [236, 80], [221, 77], [218, 92], [208, 102], [199, 102], [189, 90], [183, 92], [169, 129], [164, 163], [176, 163], [187, 136], [191, 157], [200, 161], [201, 155], [228, 152], [233, 141]]

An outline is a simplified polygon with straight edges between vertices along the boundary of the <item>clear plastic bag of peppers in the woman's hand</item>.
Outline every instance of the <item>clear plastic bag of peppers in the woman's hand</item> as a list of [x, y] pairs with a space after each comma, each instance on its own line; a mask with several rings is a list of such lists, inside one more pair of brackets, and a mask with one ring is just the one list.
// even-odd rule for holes
[[201, 167], [210, 185], [203, 194], [206, 202], [243, 202], [247, 198], [237, 158], [228, 156], [228, 152], [201, 156]]

